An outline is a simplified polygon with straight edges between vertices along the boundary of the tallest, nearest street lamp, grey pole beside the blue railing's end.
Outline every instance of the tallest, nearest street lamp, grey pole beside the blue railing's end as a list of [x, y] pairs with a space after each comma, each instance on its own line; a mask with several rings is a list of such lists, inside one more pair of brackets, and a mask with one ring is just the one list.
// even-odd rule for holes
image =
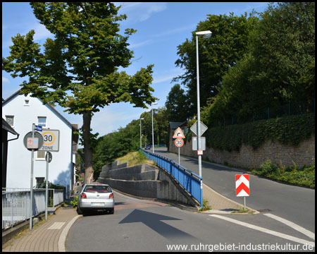
[[[196, 57], [197, 57], [197, 150], [201, 149], [201, 134], [200, 134], [200, 99], [199, 99], [199, 57], [198, 57], [198, 37], [209, 38], [211, 31], [196, 32]], [[201, 177], [201, 155], [198, 155], [198, 170]]]

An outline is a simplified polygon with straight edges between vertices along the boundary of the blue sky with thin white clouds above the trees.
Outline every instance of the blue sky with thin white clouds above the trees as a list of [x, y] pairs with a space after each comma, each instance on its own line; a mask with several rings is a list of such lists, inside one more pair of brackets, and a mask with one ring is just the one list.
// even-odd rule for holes
[[[140, 68], [146, 68], [154, 64], [152, 95], [159, 98], [154, 108], [164, 107], [168, 92], [176, 83], [172, 79], [185, 73], [185, 70], [176, 67], [178, 59], [178, 45], [192, 40], [192, 32], [196, 30], [197, 24], [207, 19], [208, 14], [229, 15], [233, 12], [241, 16], [245, 12], [250, 13], [252, 9], [257, 12], [265, 11], [268, 2], [149, 2], [115, 3], [121, 5], [118, 14], [126, 14], [128, 18], [120, 22], [120, 31], [123, 34], [126, 28], [133, 28], [137, 32], [130, 36], [128, 47], [134, 52], [134, 58], [128, 68], [119, 68], [128, 75], [134, 75]], [[41, 25], [32, 13], [32, 8], [27, 2], [5, 2], [2, 3], [2, 56], [10, 54], [11, 37], [18, 33], [26, 35], [30, 30], [35, 30], [35, 42], [44, 44], [47, 37], [54, 35]], [[2, 71], [2, 98], [7, 99], [20, 89], [20, 84], [27, 78], [12, 78], [10, 73]], [[185, 87], [182, 87], [185, 89]], [[186, 90], [186, 89], [185, 89]], [[132, 120], [139, 119], [144, 111], [149, 109], [133, 107], [130, 103], [111, 104], [92, 117], [92, 133], [99, 133], [99, 137], [125, 128]], [[82, 116], [68, 114], [63, 108], [56, 107], [70, 123], [82, 126]], [[51, 126], [54, 128], [54, 126]]]

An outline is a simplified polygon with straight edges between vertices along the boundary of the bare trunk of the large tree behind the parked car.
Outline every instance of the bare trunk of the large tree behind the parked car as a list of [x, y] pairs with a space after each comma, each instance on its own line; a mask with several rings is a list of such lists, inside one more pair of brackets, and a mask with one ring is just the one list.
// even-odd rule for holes
[[92, 113], [87, 112], [82, 115], [82, 136], [84, 138], [85, 150], [85, 179], [84, 183], [92, 183], [94, 169], [92, 168], [92, 148], [90, 144], [90, 123], [92, 121]]

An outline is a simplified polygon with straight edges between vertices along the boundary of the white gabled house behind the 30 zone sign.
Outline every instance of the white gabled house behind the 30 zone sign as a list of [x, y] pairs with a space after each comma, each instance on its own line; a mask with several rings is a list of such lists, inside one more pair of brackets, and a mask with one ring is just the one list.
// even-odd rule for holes
[[[32, 131], [32, 123], [43, 129], [59, 130], [58, 152], [51, 152], [49, 182], [66, 186], [66, 198], [73, 190], [75, 179], [75, 152], [77, 151], [77, 125], [67, 119], [49, 104], [40, 99], [26, 97], [18, 92], [2, 101], [2, 118], [20, 133], [20, 137], [10, 141], [6, 171], [6, 188], [30, 188], [32, 152], [25, 148], [24, 136]], [[8, 139], [16, 138], [8, 133]], [[46, 177], [46, 152], [34, 152], [33, 187]], [[4, 186], [2, 186], [4, 188]]]

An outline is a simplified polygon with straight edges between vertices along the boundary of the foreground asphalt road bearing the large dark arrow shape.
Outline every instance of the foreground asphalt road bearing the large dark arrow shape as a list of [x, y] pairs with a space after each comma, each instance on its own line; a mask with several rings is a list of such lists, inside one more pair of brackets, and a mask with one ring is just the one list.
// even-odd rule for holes
[[114, 196], [114, 214], [94, 212], [73, 224], [66, 251], [279, 251], [314, 246], [309, 236], [266, 214], [217, 217], [117, 192]]

